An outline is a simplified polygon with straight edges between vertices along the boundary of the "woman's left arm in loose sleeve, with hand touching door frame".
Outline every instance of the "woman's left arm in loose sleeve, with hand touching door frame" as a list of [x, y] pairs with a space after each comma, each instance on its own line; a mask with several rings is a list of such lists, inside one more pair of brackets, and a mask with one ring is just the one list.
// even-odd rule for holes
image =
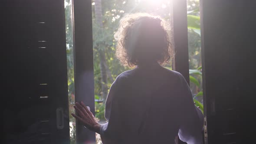
[[73, 117], [81, 121], [86, 128], [101, 135], [103, 144], [118, 144], [118, 138], [121, 137], [121, 118], [120, 118], [120, 96], [121, 82], [120, 75], [113, 82], [105, 104], [105, 118], [108, 120], [105, 124], [98, 124], [94, 115], [81, 101], [75, 103], [74, 108], [79, 115], [72, 114]]

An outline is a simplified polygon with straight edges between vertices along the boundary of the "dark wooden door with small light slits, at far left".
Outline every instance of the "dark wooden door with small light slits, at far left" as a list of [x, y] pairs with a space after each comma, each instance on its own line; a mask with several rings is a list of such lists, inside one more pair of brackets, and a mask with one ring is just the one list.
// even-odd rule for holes
[[64, 0], [1, 5], [3, 144], [68, 144]]

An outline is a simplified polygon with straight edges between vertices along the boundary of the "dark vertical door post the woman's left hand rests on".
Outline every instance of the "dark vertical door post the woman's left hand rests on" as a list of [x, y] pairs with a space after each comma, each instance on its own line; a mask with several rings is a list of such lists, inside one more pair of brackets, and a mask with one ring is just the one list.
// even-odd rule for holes
[[[73, 0], [75, 101], [84, 101], [95, 113], [92, 51], [92, 2]], [[95, 144], [95, 132], [84, 128], [77, 121], [78, 144]]]

